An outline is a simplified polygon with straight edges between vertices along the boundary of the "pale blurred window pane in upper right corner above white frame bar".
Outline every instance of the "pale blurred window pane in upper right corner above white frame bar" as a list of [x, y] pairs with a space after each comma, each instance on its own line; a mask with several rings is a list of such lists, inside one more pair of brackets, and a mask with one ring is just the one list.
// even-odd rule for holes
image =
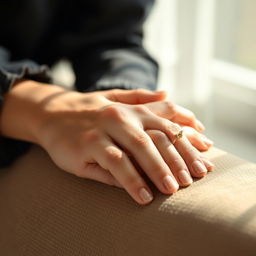
[[215, 58], [256, 71], [255, 10], [254, 0], [217, 1]]

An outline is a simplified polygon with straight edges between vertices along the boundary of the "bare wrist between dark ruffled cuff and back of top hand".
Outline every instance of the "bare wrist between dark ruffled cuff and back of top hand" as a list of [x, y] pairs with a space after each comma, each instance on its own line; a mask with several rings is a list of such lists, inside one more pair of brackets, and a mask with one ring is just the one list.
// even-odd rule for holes
[[63, 91], [59, 86], [19, 81], [4, 97], [0, 115], [1, 135], [38, 143], [38, 133], [45, 119], [44, 102]]

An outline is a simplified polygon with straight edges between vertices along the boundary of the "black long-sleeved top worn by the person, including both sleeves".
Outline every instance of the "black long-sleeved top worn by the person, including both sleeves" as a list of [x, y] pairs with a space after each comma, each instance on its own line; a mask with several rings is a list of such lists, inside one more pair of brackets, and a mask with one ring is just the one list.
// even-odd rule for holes
[[[0, 1], [0, 104], [19, 78], [51, 82], [48, 66], [67, 58], [81, 92], [155, 89], [157, 64], [142, 47], [154, 0]], [[0, 137], [0, 167], [30, 143]]]

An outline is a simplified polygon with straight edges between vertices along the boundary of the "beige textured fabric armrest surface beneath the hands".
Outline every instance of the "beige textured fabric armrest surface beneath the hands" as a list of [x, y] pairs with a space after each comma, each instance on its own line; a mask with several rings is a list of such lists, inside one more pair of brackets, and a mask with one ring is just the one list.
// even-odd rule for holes
[[256, 165], [212, 149], [214, 172], [137, 205], [59, 170], [39, 147], [0, 170], [0, 255], [256, 255]]

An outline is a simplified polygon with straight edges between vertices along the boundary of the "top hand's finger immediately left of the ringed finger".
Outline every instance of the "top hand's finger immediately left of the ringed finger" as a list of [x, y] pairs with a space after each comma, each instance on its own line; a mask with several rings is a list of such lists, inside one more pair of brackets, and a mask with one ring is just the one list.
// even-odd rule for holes
[[164, 161], [167, 163], [175, 176], [177, 182], [181, 186], [188, 186], [192, 184], [193, 180], [190, 176], [186, 163], [172, 145], [168, 137], [163, 132], [158, 130], [147, 130], [146, 132], [153, 140]]

